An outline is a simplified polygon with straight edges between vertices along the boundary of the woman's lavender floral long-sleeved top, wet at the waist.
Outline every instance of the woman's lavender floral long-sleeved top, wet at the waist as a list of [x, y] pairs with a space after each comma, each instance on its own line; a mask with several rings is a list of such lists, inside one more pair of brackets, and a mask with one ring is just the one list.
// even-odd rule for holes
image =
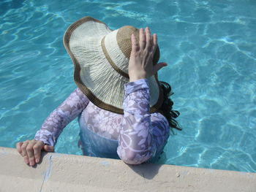
[[[116, 142], [111, 150], [127, 164], [141, 164], [154, 158], [165, 147], [170, 136], [167, 119], [159, 112], [150, 114], [147, 79], [128, 82], [124, 85], [124, 91], [124, 115], [120, 115], [97, 107], [76, 88], [50, 113], [34, 139], [54, 146], [63, 128], [79, 117], [81, 132], [103, 139], [103, 142], [96, 139], [94, 143], [97, 143], [97, 148], [104, 149], [104, 141]], [[86, 138], [83, 133], [80, 133], [80, 138], [83, 145], [88, 145], [83, 149], [91, 147], [88, 139], [83, 141]]]

